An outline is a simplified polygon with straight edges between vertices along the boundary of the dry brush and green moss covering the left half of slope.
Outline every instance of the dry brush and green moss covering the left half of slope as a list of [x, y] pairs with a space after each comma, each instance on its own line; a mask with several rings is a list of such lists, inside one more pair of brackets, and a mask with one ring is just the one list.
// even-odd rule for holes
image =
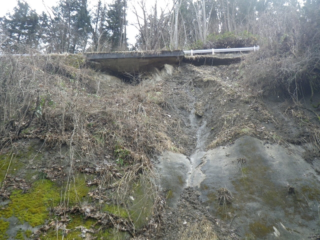
[[[10, 201], [1, 211], [3, 219], [16, 216], [21, 224], [39, 226], [57, 216], [54, 207], [88, 201], [94, 208], [109, 204], [122, 209], [108, 212], [142, 227], [157, 211], [150, 158], [164, 149], [183, 151], [183, 142], [173, 143], [169, 134], [180, 131], [178, 119], [164, 113], [159, 86], [108, 82], [82, 60], [68, 54], [0, 56], [6, 69], [0, 72], [0, 194]], [[163, 121], [163, 115], [170, 120]], [[18, 144], [29, 139], [39, 139], [41, 147], [32, 153], [21, 150]], [[57, 158], [55, 152], [60, 152]], [[21, 160], [23, 154], [27, 159]], [[16, 182], [13, 176], [23, 168], [33, 173], [26, 173], [26, 182]], [[23, 189], [12, 189], [12, 182]], [[142, 189], [140, 182], [149, 184]], [[149, 193], [151, 198], [144, 196]], [[112, 220], [107, 226], [114, 227]], [[130, 232], [131, 223], [127, 226], [124, 231]]]

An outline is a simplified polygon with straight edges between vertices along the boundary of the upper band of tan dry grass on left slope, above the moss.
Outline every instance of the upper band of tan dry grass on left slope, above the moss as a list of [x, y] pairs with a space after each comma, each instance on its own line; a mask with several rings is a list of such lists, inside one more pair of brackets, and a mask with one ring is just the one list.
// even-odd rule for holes
[[167, 135], [177, 120], [160, 120], [166, 118], [165, 102], [148, 97], [152, 87], [110, 83], [96, 94], [99, 75], [83, 62], [78, 55], [1, 56], [2, 146], [37, 136], [80, 155], [120, 145], [131, 160], [141, 161], [178, 148]]

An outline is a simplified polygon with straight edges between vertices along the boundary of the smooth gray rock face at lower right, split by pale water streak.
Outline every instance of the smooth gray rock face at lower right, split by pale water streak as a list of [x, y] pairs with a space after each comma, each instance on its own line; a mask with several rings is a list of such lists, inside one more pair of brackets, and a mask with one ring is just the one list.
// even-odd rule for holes
[[[303, 151], [243, 136], [189, 159], [164, 152], [157, 163], [159, 184], [173, 208], [185, 187], [199, 190], [209, 211], [243, 239], [306, 239], [318, 229], [320, 184]], [[220, 188], [231, 192], [231, 204], [219, 204]]]

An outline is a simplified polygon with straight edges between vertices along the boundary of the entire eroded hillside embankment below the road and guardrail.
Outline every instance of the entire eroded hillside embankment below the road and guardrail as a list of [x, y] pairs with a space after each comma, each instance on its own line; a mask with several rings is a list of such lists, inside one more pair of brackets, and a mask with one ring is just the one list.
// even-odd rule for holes
[[1, 239], [317, 239], [311, 93], [263, 94], [243, 62], [0, 64]]

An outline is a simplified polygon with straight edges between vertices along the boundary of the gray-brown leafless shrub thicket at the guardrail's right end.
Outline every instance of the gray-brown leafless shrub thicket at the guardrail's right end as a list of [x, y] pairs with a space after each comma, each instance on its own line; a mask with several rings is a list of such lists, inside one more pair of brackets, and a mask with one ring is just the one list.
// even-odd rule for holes
[[[319, 7], [318, 2], [309, 3], [301, 9], [302, 18], [293, 8], [283, 12], [288, 18], [278, 16], [279, 29], [261, 39], [260, 50], [245, 60], [244, 75], [262, 95], [275, 94], [298, 101], [300, 96], [317, 91]], [[272, 27], [267, 25], [265, 30]]]

